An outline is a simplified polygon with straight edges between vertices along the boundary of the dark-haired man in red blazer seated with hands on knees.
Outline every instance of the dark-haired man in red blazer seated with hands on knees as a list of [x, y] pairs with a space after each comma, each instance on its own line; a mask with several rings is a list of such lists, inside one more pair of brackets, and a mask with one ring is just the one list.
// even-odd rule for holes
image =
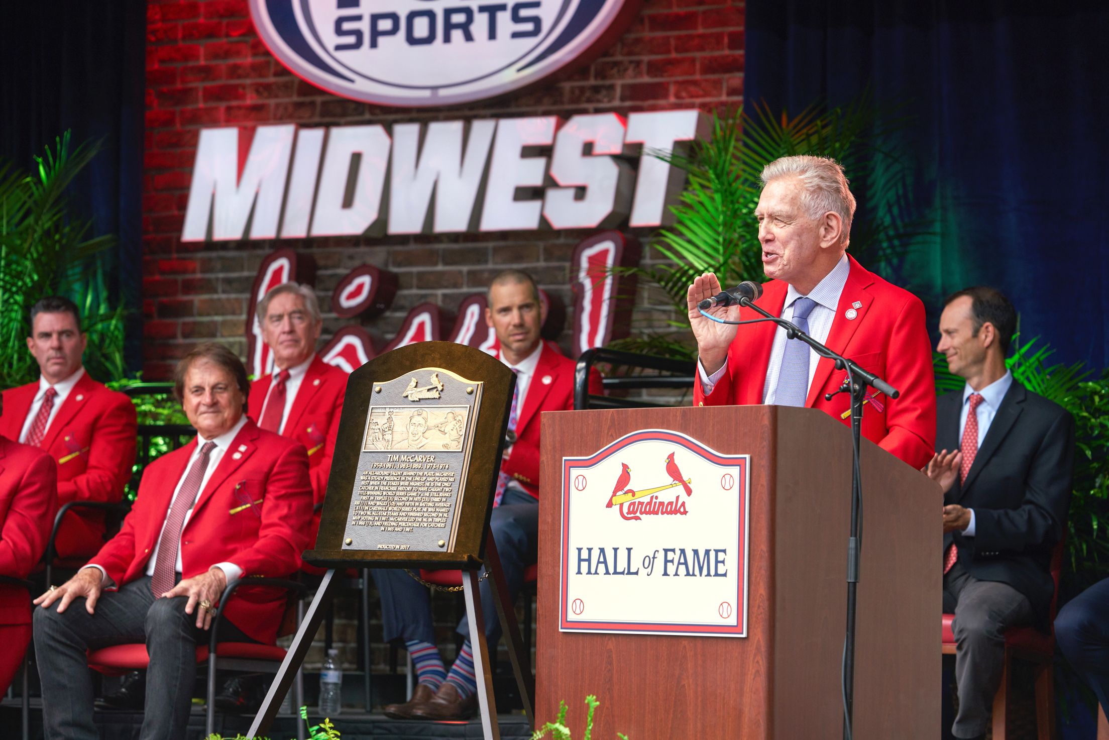
[[78, 574], [34, 600], [34, 647], [49, 738], [98, 738], [85, 651], [145, 641], [146, 712], [141, 737], [185, 736], [195, 647], [216, 608], [222, 639], [273, 643], [285, 594], [238, 578], [279, 577], [301, 567], [312, 517], [303, 446], [260, 429], [246, 415], [246, 368], [220, 344], [177, 364], [175, 393], [194, 442], [143, 473], [123, 528]]

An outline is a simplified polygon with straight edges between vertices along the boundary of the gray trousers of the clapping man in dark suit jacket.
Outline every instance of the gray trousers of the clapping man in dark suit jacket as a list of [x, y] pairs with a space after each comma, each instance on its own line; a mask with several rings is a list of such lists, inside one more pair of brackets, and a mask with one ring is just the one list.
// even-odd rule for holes
[[1032, 606], [1007, 584], [978, 580], [956, 562], [944, 576], [944, 612], [955, 614], [956, 738], [986, 732], [1005, 668], [1005, 630], [1030, 625]]

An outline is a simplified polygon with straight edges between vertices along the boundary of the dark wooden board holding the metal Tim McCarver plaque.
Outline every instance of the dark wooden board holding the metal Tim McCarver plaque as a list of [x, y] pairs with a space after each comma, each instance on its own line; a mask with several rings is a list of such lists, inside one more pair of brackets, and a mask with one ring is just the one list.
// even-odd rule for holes
[[481, 562], [516, 376], [452, 342], [394, 349], [350, 374], [308, 562]]

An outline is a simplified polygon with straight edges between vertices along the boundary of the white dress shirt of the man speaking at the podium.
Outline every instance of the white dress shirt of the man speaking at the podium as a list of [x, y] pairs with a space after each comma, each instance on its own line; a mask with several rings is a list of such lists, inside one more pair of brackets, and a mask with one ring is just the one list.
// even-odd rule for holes
[[[816, 284], [807, 296], [803, 296], [797, 288], [790, 285], [785, 292], [785, 305], [782, 307], [782, 318], [793, 321], [793, 306], [797, 298], [808, 297], [816, 302], [808, 314], [807, 334], [824, 344], [832, 331], [832, 323], [835, 321], [835, 312], [840, 305], [840, 296], [843, 294], [843, 286], [847, 283], [847, 275], [851, 274], [851, 262], [844, 254], [835, 267]], [[774, 332], [774, 344], [770, 349], [770, 362], [766, 365], [766, 382], [763, 384], [763, 403], [773, 404], [777, 396], [777, 376], [782, 372], [782, 356], [785, 354], [785, 343], [790, 339], [785, 336], [785, 328], [779, 326]], [[794, 339], [800, 342], [800, 339]], [[813, 348], [808, 349], [808, 385], [812, 385], [813, 375], [816, 374], [816, 363], [821, 356]], [[728, 361], [712, 375], [704, 372], [704, 365], [698, 361], [698, 372], [701, 375], [701, 387], [708, 396], [716, 386], [720, 378], [728, 372]], [[807, 391], [807, 386], [806, 386]]]

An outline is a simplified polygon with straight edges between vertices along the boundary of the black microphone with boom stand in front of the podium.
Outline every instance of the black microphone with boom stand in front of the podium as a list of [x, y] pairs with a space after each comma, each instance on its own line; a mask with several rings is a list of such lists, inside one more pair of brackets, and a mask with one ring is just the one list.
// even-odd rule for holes
[[[761, 291], [759, 291], [761, 293]], [[828, 349], [805, 332], [802, 332], [795, 324], [779, 316], [773, 316], [755, 305], [749, 295], [741, 295], [735, 303], [751, 308], [763, 318], [749, 321], [725, 321], [713, 316], [704, 308], [699, 308], [701, 315], [719, 324], [757, 324], [762, 322], [774, 322], [785, 328], [787, 339], [800, 339], [812, 347], [821, 357], [835, 361], [836, 369], [846, 369], [847, 378], [843, 386], [834, 393], [824, 395], [825, 401], [831, 401], [832, 396], [838, 393], [851, 394], [851, 444], [852, 444], [852, 476], [851, 476], [851, 535], [847, 539], [847, 629], [843, 642], [843, 736], [845, 740], [852, 740], [855, 693], [855, 609], [857, 605], [859, 555], [863, 546], [863, 484], [862, 470], [858, 464], [858, 450], [863, 434], [863, 405], [866, 403], [866, 388], [873, 387], [879, 393], [884, 393], [888, 398], [896, 398], [901, 395], [897, 388], [893, 387], [874, 373], [864, 369], [855, 362]]]

